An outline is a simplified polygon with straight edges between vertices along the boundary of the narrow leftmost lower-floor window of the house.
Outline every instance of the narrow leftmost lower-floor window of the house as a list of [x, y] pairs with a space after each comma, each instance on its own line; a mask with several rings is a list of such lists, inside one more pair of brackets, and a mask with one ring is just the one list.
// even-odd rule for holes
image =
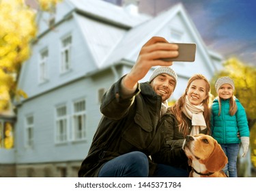
[[26, 125], [25, 125], [25, 146], [26, 147], [33, 147], [33, 116], [30, 115], [26, 117]]

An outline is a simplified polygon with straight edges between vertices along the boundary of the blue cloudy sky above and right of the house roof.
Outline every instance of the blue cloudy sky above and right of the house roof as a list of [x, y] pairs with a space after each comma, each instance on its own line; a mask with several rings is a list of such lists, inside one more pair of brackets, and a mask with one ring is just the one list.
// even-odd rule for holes
[[208, 48], [256, 66], [255, 0], [139, 0], [139, 11], [157, 14], [176, 3], [184, 5]]

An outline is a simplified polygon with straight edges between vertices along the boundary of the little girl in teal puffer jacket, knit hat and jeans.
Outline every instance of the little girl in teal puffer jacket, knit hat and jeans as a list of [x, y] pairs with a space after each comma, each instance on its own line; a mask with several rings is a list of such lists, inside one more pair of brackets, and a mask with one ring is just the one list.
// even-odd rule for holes
[[[234, 96], [235, 85], [227, 76], [216, 80], [215, 89], [218, 97], [212, 104], [211, 128], [212, 136], [223, 148], [228, 164], [223, 171], [229, 177], [238, 177], [236, 162], [238, 158], [239, 143], [242, 142], [244, 157], [248, 151], [250, 132], [244, 107]], [[240, 133], [240, 138], [237, 134]]]

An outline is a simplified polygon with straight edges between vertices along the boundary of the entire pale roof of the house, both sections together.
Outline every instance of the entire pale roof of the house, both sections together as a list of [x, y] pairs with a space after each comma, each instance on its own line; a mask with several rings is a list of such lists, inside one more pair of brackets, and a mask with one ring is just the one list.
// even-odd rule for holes
[[[66, 3], [70, 8], [66, 14], [73, 12], [98, 69], [114, 65], [122, 59], [135, 62], [143, 44], [159, 33], [177, 14], [192, 34], [197, 50], [203, 53], [207, 67], [212, 71], [216, 69], [211, 57], [218, 57], [218, 54], [206, 48], [182, 3], [156, 17], [130, 14], [122, 7], [100, 0], [67, 0]], [[220, 59], [221, 56], [218, 57]]]

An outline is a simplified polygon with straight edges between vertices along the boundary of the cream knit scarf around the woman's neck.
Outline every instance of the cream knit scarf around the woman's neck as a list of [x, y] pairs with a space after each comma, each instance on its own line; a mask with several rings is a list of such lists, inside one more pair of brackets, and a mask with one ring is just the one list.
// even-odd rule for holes
[[204, 107], [203, 104], [193, 105], [188, 101], [188, 95], [186, 95], [186, 100], [182, 112], [191, 119], [192, 130], [190, 135], [199, 134], [199, 130], [204, 130], [206, 128], [205, 119], [203, 117]]

